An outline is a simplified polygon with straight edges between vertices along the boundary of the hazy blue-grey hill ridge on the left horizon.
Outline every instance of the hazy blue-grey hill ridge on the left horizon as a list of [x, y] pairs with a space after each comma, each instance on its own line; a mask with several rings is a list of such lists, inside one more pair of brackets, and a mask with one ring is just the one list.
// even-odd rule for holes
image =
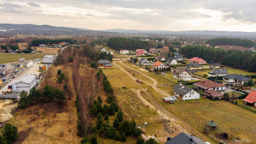
[[[2, 30], [2, 31], [1, 31]], [[50, 25], [0, 24], [0, 33], [25, 33], [43, 35], [117, 35], [106, 31], [93, 31], [83, 28], [67, 28]]]

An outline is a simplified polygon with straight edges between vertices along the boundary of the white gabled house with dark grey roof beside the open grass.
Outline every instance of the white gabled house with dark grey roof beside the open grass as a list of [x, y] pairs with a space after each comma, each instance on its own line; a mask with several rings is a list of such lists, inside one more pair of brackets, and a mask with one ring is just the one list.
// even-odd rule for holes
[[174, 96], [179, 97], [180, 99], [186, 101], [189, 99], [199, 99], [200, 94], [197, 91], [194, 91], [191, 87], [185, 86], [184, 84], [177, 84], [173, 87]]

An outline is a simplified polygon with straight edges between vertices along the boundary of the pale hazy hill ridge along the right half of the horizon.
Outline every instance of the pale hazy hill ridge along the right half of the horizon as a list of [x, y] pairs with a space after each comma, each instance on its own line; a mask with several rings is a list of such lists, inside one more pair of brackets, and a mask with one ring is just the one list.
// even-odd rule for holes
[[256, 38], [256, 32], [242, 32], [242, 31], [148, 31], [148, 30], [125, 30], [125, 29], [111, 29], [103, 30], [109, 32], [116, 32], [122, 34], [147, 34], [147, 35], [169, 35], [169, 36], [198, 36], [198, 37], [230, 37], [230, 38]]

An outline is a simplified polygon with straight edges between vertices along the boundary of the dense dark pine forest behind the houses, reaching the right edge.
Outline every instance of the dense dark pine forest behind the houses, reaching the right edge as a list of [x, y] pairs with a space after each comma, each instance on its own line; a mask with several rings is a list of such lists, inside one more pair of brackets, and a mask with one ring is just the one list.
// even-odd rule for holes
[[200, 57], [206, 61], [220, 62], [235, 69], [256, 72], [256, 55], [253, 52], [240, 50], [223, 50], [220, 48], [209, 48], [205, 46], [186, 46], [179, 49], [179, 52], [187, 58]]

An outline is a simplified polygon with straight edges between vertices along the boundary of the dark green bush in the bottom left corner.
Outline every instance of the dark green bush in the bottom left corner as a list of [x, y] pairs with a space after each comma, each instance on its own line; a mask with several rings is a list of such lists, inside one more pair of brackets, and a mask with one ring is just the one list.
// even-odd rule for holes
[[18, 128], [10, 123], [4, 125], [3, 136], [8, 143], [13, 143], [18, 138]]

